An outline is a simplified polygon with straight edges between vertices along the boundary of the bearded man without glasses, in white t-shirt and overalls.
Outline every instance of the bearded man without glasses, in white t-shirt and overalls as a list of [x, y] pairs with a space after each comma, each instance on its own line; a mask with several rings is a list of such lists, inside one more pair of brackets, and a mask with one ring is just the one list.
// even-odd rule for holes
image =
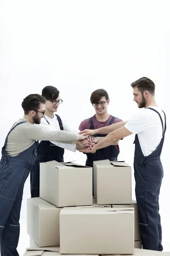
[[[128, 122], [119, 122], [96, 130], [84, 130], [86, 135], [108, 134], [91, 150], [112, 145], [130, 134], [135, 136], [134, 175], [136, 201], [139, 209], [139, 226], [143, 249], [163, 250], [161, 245], [161, 221], [159, 215], [159, 192], [163, 178], [160, 155], [166, 131], [166, 117], [156, 105], [155, 84], [142, 77], [131, 84], [133, 100], [144, 111], [132, 116]], [[122, 127], [120, 126], [122, 125]]]

